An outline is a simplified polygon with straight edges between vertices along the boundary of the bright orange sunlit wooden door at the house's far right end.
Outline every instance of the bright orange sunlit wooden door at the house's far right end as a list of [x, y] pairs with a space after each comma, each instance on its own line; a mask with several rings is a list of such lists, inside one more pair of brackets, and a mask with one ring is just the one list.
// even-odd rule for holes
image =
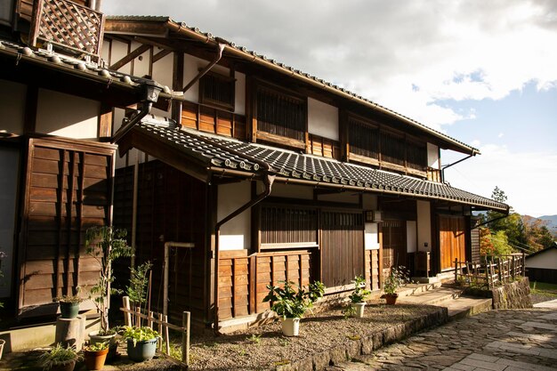
[[464, 228], [464, 217], [439, 217], [441, 270], [453, 268], [455, 259], [458, 259], [459, 262], [466, 260]]

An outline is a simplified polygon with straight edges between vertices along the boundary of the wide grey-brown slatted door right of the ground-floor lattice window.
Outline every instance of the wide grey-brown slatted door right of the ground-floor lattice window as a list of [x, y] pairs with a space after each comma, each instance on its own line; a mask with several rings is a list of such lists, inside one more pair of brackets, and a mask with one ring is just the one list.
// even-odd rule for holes
[[325, 286], [351, 283], [364, 273], [364, 223], [361, 213], [321, 213], [321, 279]]

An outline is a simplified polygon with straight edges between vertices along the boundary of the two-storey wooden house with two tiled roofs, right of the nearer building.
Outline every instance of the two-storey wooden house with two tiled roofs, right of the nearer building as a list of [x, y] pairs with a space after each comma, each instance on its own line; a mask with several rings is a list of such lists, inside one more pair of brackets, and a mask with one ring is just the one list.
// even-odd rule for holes
[[435, 276], [471, 260], [473, 210], [508, 211], [444, 182], [440, 149], [478, 149], [318, 77], [167, 17], [109, 17], [105, 38], [112, 69], [173, 90], [170, 120], [119, 138], [114, 205], [171, 317], [249, 323], [285, 279]]

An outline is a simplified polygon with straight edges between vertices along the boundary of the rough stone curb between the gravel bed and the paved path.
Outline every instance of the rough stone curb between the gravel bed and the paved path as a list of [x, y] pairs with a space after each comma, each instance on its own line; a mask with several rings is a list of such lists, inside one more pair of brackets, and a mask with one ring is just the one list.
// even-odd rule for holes
[[335, 346], [328, 351], [313, 353], [305, 359], [298, 359], [288, 365], [271, 368], [272, 371], [321, 371], [325, 367], [335, 366], [359, 355], [371, 354], [389, 343], [400, 340], [423, 331], [429, 327], [438, 327], [448, 322], [447, 308], [438, 308], [430, 314], [401, 322], [393, 327], [384, 328], [354, 340], [352, 343]]

